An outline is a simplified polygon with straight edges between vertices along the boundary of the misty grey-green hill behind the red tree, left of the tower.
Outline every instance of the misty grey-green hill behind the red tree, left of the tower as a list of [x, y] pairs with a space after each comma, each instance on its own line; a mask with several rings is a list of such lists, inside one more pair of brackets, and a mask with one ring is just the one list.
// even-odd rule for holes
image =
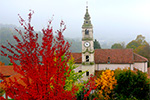
[[[16, 27], [15, 25], [0, 24], [0, 44], [8, 46], [7, 40], [12, 44], [16, 43], [15, 40], [13, 39], [13, 35], [17, 35], [18, 37], [19, 35], [14, 28], [17, 28], [23, 31], [21, 27]], [[38, 32], [38, 33], [39, 33], [39, 44], [41, 44], [42, 33], [41, 32]], [[72, 39], [72, 38], [65, 38], [65, 39], [71, 44], [71, 47], [70, 47], [71, 52], [81, 52], [81, 49], [82, 49], [81, 39]], [[4, 51], [7, 52], [6, 50]], [[9, 59], [3, 56], [0, 56], [0, 61], [5, 63], [6, 65], [10, 63]]]

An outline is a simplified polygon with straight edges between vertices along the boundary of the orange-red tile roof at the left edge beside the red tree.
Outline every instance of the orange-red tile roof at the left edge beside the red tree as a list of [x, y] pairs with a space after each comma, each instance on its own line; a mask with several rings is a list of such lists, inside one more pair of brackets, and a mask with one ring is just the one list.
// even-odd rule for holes
[[0, 73], [3, 74], [4, 77], [16, 74], [14, 66], [0, 66]]

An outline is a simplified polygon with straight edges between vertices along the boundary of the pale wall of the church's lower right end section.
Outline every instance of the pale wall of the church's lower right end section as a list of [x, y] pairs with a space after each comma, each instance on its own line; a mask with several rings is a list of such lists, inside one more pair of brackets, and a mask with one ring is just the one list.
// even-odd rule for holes
[[147, 62], [135, 62], [133, 66], [142, 72], [147, 72]]

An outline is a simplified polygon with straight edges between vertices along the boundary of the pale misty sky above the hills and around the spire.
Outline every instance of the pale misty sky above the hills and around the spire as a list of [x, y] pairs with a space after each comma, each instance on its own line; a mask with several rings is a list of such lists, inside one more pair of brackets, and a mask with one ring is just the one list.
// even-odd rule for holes
[[54, 29], [63, 20], [65, 37], [81, 38], [86, 1], [94, 37], [99, 41], [129, 42], [142, 34], [150, 42], [150, 0], [0, 0], [0, 23], [20, 26], [18, 14], [27, 20], [32, 9], [36, 31], [46, 27], [54, 15]]

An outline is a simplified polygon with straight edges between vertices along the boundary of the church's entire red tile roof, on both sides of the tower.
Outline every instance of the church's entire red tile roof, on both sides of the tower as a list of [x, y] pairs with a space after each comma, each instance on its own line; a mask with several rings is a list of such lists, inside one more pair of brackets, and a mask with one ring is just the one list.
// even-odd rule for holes
[[[133, 53], [132, 49], [96, 49], [95, 63], [106, 64], [110, 59], [111, 64], [132, 64], [134, 62], [148, 61], [146, 58]], [[75, 63], [82, 63], [81, 53], [72, 53]]]

